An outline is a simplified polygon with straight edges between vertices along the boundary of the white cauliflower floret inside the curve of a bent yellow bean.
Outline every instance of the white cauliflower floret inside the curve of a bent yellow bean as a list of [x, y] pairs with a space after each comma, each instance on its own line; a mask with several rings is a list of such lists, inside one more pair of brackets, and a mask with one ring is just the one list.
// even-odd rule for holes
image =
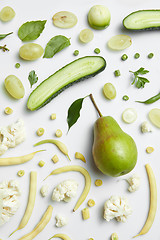
[[53, 190], [53, 201], [69, 202], [77, 194], [78, 183], [74, 180], [65, 180], [57, 185]]

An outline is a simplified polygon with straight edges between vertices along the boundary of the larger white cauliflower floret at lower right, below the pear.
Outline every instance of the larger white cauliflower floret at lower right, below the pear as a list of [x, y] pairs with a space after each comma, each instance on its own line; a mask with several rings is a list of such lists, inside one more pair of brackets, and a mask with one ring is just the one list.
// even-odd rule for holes
[[104, 204], [104, 219], [108, 222], [113, 218], [118, 222], [126, 222], [131, 213], [132, 209], [125, 197], [111, 196]]

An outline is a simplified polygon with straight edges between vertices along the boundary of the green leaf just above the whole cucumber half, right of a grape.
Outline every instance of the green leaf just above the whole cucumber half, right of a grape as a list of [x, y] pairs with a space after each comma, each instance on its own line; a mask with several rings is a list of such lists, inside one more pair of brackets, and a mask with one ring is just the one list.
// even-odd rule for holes
[[45, 48], [44, 58], [52, 58], [56, 53], [70, 45], [70, 40], [62, 35], [57, 35], [49, 40]]

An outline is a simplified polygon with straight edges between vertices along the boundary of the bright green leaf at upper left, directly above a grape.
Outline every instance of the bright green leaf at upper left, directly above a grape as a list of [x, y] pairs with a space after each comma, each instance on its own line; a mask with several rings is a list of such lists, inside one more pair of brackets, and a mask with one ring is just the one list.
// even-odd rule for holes
[[39, 20], [24, 23], [18, 30], [18, 37], [23, 42], [37, 39], [42, 33], [46, 22], [47, 20]]

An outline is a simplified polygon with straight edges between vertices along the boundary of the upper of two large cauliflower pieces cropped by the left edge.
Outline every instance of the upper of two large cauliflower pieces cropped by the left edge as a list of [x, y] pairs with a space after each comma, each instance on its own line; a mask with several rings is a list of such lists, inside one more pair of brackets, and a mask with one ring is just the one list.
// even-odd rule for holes
[[0, 128], [0, 155], [8, 148], [15, 147], [25, 139], [24, 122], [19, 119], [7, 127]]

